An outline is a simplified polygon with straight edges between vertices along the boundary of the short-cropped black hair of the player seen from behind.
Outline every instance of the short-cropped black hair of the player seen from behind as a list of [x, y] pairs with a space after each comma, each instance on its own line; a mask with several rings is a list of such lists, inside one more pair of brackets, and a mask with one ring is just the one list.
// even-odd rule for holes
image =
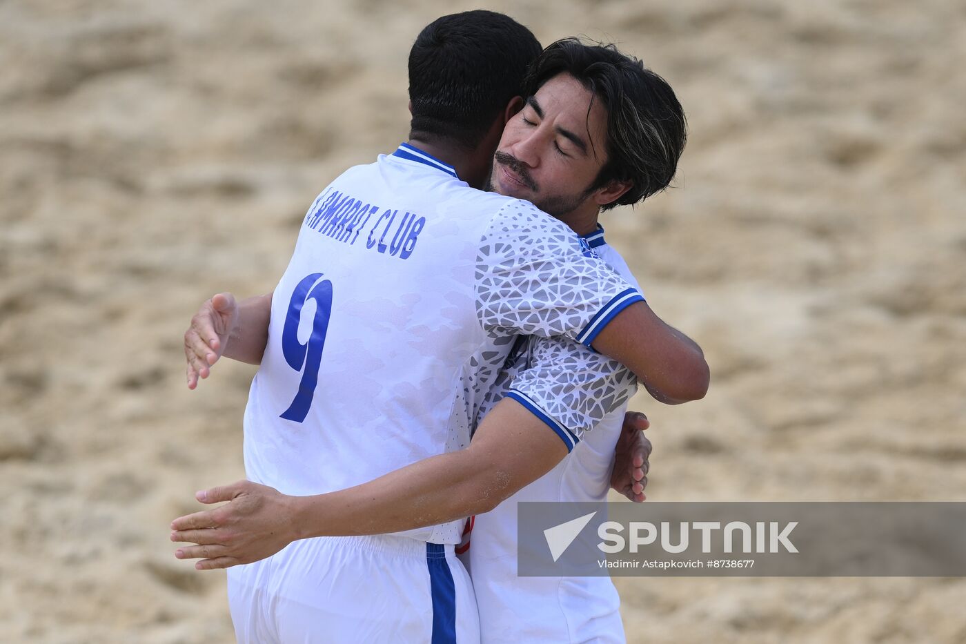
[[513, 97], [523, 95], [540, 43], [513, 18], [477, 10], [443, 15], [410, 50], [412, 132], [473, 147]]

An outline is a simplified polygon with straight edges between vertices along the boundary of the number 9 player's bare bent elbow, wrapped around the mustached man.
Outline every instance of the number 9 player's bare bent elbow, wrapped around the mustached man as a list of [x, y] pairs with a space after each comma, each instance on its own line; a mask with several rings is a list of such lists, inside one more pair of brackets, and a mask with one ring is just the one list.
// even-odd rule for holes
[[593, 346], [634, 371], [661, 402], [697, 400], [708, 391], [711, 373], [701, 348], [644, 302], [620, 311], [594, 338]]

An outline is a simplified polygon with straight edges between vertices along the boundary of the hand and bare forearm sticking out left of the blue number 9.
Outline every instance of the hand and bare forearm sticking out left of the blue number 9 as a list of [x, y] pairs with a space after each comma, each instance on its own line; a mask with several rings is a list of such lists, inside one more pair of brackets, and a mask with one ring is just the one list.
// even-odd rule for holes
[[260, 365], [269, 341], [271, 293], [236, 304], [231, 293], [218, 293], [191, 318], [185, 331], [187, 387], [207, 378], [218, 358], [225, 355], [249, 365]]

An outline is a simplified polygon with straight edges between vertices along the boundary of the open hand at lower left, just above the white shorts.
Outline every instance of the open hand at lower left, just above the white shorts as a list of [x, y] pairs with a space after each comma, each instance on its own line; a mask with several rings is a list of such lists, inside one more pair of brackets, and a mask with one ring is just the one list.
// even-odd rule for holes
[[171, 541], [189, 542], [178, 559], [201, 559], [199, 571], [250, 564], [297, 539], [294, 500], [273, 487], [240, 481], [195, 493], [201, 503], [228, 503], [171, 522]]

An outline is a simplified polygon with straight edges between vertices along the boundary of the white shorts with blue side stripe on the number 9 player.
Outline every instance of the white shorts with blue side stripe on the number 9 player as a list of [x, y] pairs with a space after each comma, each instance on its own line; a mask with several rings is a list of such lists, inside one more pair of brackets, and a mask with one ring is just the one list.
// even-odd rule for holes
[[241, 644], [479, 642], [453, 546], [406, 537], [292, 542], [228, 569], [228, 602]]

